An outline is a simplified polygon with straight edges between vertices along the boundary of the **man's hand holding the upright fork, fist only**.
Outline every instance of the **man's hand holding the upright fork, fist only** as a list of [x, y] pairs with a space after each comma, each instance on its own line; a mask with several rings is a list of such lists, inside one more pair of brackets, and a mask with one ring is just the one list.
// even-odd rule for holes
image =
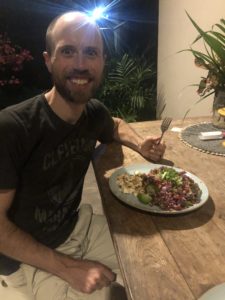
[[139, 143], [138, 148], [144, 158], [157, 162], [163, 157], [166, 145], [159, 143], [158, 137], [148, 136]]

